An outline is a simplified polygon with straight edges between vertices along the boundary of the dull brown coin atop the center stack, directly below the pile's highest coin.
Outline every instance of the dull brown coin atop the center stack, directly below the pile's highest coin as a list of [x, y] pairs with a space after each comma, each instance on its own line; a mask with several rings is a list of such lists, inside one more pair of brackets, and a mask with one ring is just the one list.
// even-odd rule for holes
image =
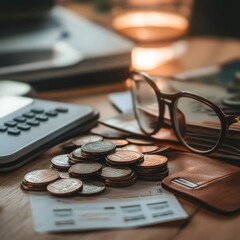
[[72, 165], [68, 172], [74, 176], [91, 176], [95, 175], [102, 168], [102, 164], [95, 162], [77, 163]]

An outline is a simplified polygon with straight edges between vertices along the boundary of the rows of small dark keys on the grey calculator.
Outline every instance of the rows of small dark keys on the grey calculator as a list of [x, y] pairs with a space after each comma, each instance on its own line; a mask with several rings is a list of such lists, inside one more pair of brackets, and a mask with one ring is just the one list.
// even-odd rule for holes
[[33, 108], [28, 112], [17, 116], [13, 120], [4, 122], [0, 125], [0, 133], [7, 132], [11, 135], [19, 135], [21, 131], [29, 131], [32, 127], [37, 127], [41, 122], [46, 122], [51, 117], [58, 114], [67, 113], [68, 108], [58, 107], [53, 110], [44, 111], [42, 108]]

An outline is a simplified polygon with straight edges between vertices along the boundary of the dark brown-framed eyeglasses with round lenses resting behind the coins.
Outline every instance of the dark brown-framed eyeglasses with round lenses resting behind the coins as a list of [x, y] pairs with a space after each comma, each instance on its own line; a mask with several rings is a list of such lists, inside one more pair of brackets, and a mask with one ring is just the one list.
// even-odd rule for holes
[[228, 130], [240, 132], [240, 116], [226, 115], [211, 101], [191, 92], [163, 93], [146, 73], [132, 72], [131, 92], [135, 117], [146, 135], [171, 125], [186, 148], [211, 153], [221, 146]]

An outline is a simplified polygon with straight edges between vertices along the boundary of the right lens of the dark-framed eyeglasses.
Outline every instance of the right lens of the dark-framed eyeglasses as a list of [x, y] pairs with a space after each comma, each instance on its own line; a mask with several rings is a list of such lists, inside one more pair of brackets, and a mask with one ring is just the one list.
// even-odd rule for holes
[[221, 136], [221, 121], [215, 110], [190, 97], [177, 99], [174, 108], [174, 123], [182, 141], [199, 151], [213, 149]]

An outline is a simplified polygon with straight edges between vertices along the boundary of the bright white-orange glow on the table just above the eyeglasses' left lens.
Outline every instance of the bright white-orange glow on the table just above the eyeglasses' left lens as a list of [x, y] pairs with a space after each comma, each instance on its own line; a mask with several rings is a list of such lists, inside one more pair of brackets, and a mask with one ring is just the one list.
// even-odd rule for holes
[[167, 61], [181, 56], [186, 47], [185, 41], [179, 41], [168, 47], [135, 47], [132, 50], [132, 67], [137, 70], [153, 70]]

